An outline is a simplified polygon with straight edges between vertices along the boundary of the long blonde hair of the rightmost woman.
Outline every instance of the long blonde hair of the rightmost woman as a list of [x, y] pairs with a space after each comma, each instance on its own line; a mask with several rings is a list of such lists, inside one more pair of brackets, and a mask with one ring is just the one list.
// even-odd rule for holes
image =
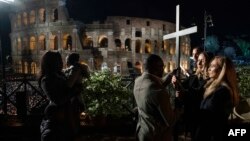
[[213, 60], [216, 60], [221, 71], [218, 78], [210, 79], [204, 86], [206, 88], [204, 98], [211, 95], [220, 85], [223, 85], [230, 90], [233, 105], [237, 105], [239, 103], [239, 90], [237, 85], [237, 74], [233, 62], [229, 58], [223, 56], [216, 56]]

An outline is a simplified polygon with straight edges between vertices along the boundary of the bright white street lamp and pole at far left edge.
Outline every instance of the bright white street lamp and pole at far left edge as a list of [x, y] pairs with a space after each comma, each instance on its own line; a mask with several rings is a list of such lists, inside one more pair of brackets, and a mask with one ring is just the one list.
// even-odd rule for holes
[[[1, 4], [1, 2], [4, 2], [6, 4], [11, 4], [11, 3], [14, 2], [14, 0], [0, 0], [0, 4]], [[0, 23], [0, 28], [3, 29], [1, 23]], [[2, 91], [2, 95], [3, 95], [3, 111], [4, 111], [4, 114], [7, 114], [7, 93], [6, 93], [6, 82], [5, 82], [5, 62], [4, 62], [4, 53], [3, 53], [4, 49], [2, 47], [1, 39], [2, 39], [2, 37], [0, 35], [0, 53], [1, 53], [1, 59], [2, 59], [2, 83], [3, 83], [3, 91]]]

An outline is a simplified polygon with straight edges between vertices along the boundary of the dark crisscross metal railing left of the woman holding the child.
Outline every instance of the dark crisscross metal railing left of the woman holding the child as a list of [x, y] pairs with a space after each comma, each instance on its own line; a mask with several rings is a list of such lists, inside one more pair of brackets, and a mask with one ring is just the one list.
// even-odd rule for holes
[[9, 75], [6, 76], [5, 82], [1, 82], [0, 114], [16, 115], [18, 112], [37, 114], [38, 109], [46, 102], [46, 96], [32, 75]]

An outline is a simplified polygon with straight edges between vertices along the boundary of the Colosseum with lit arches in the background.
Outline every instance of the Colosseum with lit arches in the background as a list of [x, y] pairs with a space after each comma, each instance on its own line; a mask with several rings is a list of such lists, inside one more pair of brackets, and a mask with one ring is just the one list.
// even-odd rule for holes
[[[175, 39], [163, 36], [175, 32], [175, 24], [167, 21], [108, 16], [105, 21], [84, 23], [70, 18], [65, 0], [20, 0], [11, 19], [11, 50], [15, 72], [37, 74], [41, 56], [48, 50], [59, 51], [63, 57], [80, 54], [81, 62], [91, 70], [102, 64], [119, 68], [128, 74], [128, 62], [142, 67], [149, 54], [160, 55], [165, 72], [176, 67]], [[189, 67], [190, 37], [180, 38], [180, 63]], [[117, 69], [116, 69], [117, 71]]]

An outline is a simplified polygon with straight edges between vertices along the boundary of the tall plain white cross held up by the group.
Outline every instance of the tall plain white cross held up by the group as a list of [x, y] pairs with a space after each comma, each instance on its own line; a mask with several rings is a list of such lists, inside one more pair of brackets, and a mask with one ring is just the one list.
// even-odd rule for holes
[[179, 37], [197, 32], [197, 26], [193, 26], [184, 30], [179, 30], [180, 27], [180, 6], [176, 6], [176, 31], [163, 36], [163, 40], [176, 38], [176, 54], [177, 54], [177, 68], [180, 67], [180, 45]]

